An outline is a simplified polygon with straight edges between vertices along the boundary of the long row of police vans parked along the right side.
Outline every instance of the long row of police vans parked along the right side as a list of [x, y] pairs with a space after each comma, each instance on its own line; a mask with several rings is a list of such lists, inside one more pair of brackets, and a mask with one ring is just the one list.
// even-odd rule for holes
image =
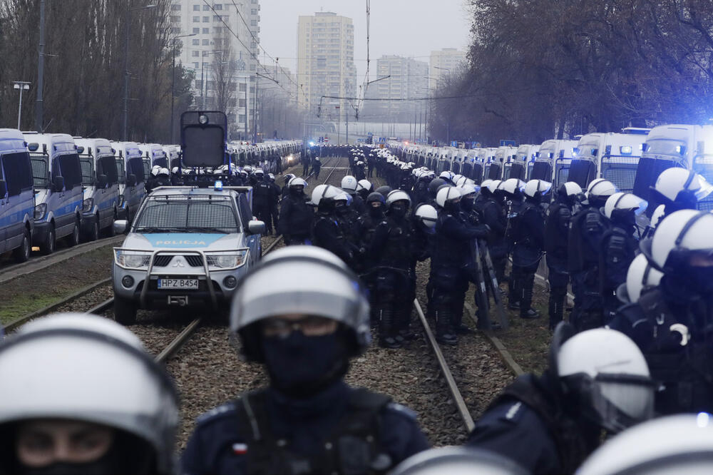
[[[450, 170], [482, 180], [547, 180], [553, 189], [575, 181], [583, 189], [605, 178], [621, 191], [650, 197], [650, 186], [667, 168], [694, 170], [713, 183], [713, 125], [672, 124], [625, 128], [621, 133], [588, 133], [576, 140], [548, 140], [540, 145], [474, 148], [389, 143], [404, 161], [441, 173]], [[713, 209], [713, 197], [699, 203]]]

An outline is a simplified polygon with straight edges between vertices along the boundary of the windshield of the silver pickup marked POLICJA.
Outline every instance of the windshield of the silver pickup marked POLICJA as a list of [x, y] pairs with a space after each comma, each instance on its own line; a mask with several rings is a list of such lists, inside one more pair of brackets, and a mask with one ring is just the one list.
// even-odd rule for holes
[[[227, 197], [226, 197], [227, 198]], [[170, 196], [150, 200], [136, 218], [136, 233], [239, 233], [229, 199]]]

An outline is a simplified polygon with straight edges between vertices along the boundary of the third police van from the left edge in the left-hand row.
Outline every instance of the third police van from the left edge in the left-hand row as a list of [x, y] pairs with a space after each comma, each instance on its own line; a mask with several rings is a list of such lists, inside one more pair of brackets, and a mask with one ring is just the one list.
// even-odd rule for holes
[[118, 219], [119, 176], [106, 138], [75, 138], [82, 168], [82, 235], [96, 241]]

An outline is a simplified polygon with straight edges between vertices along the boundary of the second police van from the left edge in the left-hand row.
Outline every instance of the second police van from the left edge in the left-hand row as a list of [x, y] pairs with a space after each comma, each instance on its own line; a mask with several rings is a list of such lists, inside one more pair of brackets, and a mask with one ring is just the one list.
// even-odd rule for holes
[[33, 245], [54, 252], [56, 241], [79, 242], [82, 171], [77, 145], [66, 133], [24, 132], [35, 190]]

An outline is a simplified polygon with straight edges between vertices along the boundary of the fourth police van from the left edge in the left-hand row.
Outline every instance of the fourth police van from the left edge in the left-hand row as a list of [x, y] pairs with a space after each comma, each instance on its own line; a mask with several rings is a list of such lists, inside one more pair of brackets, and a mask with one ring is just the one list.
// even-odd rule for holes
[[119, 174], [119, 214], [130, 221], [146, 194], [144, 184], [148, 173], [137, 143], [112, 142], [111, 147], [123, 172], [123, 178]]

